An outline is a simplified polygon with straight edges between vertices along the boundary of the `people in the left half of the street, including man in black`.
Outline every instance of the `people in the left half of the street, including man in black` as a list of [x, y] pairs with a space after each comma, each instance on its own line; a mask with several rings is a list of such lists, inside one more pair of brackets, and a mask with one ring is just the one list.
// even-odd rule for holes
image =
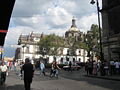
[[[58, 78], [58, 69], [59, 66], [56, 61], [53, 61], [51, 64], [50, 77]], [[45, 64], [44, 61], [40, 61], [39, 64], [40, 75], [45, 76]], [[25, 59], [25, 62], [15, 61], [15, 62], [6, 62], [0, 60], [0, 80], [3, 80], [1, 84], [4, 84], [6, 81], [6, 75], [9, 75], [8, 72], [15, 71], [16, 74], [24, 80], [25, 90], [30, 90], [30, 85], [32, 83], [32, 78], [34, 76], [35, 65], [31, 63], [29, 58]], [[0, 81], [1, 82], [1, 81]]]

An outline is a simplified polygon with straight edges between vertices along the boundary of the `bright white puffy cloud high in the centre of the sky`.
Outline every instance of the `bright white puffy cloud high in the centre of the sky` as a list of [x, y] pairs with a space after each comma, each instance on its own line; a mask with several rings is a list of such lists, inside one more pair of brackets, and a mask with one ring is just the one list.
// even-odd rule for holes
[[46, 17], [46, 22], [52, 25], [52, 27], [58, 28], [68, 24], [70, 18], [72, 18], [72, 15], [62, 7], [48, 8], [46, 14], [51, 15], [50, 17]]

